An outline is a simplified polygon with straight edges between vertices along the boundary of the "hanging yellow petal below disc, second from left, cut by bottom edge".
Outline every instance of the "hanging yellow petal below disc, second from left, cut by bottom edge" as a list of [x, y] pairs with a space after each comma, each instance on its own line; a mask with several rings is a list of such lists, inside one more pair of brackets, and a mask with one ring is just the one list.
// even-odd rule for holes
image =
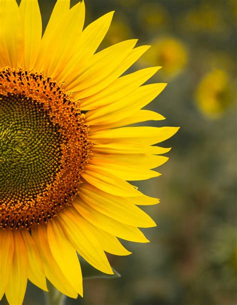
[[11, 305], [20, 305], [27, 285], [28, 261], [24, 241], [18, 231], [14, 231], [13, 239], [14, 252], [5, 295]]

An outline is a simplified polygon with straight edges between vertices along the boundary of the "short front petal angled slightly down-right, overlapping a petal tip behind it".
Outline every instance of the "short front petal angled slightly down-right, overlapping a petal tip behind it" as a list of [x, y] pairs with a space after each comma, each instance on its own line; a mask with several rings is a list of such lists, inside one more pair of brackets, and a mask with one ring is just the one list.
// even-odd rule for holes
[[140, 194], [126, 181], [92, 165], [87, 165], [81, 176], [88, 183], [109, 194], [124, 197], [138, 196]]

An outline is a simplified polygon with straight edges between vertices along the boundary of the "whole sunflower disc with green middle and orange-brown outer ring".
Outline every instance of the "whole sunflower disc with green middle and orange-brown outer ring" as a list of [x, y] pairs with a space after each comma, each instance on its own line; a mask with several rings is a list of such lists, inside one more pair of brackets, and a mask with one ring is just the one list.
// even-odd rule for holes
[[29, 230], [71, 205], [90, 147], [84, 114], [60, 85], [0, 70], [0, 228]]

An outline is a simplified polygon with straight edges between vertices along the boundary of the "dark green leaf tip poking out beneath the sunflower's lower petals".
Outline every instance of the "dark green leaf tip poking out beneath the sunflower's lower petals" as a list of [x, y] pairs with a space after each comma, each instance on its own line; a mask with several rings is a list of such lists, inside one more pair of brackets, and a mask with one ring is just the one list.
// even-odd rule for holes
[[114, 274], [105, 274], [105, 273], [102, 273], [99, 270], [95, 269], [94, 267], [90, 266], [81, 256], [78, 255], [78, 258], [80, 261], [83, 279], [121, 277], [121, 275], [113, 268], [112, 268], [112, 270], [113, 270]]

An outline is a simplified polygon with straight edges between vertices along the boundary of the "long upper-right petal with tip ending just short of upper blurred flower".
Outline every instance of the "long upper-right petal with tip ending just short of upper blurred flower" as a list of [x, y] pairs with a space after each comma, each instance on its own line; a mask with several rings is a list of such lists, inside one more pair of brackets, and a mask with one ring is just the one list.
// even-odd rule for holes
[[[88, 88], [107, 77], [126, 58], [137, 40], [126, 40], [108, 47], [82, 63], [64, 83], [65, 90], [75, 92]], [[113, 60], [111, 60], [113, 58]]]

